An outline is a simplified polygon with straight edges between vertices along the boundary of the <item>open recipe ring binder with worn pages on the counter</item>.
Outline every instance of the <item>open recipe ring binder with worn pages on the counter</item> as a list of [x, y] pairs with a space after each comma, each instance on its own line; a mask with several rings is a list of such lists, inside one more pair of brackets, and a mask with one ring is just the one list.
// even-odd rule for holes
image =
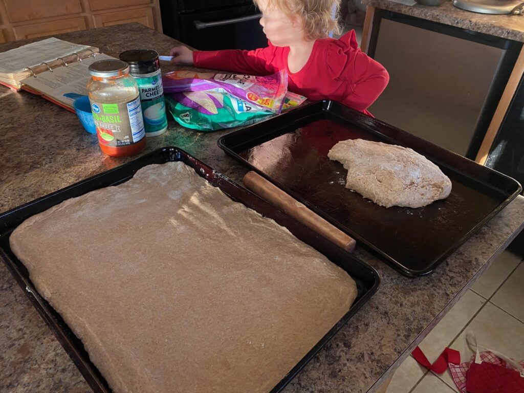
[[0, 83], [74, 111], [75, 94], [87, 94], [89, 65], [105, 59], [114, 58], [98, 48], [51, 37], [0, 53]]

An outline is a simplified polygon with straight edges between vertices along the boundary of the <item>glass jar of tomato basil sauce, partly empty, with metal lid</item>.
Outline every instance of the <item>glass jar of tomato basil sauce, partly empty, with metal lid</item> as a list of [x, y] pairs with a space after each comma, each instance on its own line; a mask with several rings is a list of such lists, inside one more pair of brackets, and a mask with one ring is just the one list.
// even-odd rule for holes
[[146, 146], [138, 85], [121, 60], [89, 66], [88, 95], [100, 149], [108, 156], [138, 154]]

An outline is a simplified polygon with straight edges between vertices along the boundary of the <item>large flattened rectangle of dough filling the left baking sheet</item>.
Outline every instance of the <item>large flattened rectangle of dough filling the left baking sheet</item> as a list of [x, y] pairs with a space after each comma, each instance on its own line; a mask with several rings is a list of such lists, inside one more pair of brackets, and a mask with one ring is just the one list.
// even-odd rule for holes
[[357, 294], [181, 162], [32, 216], [10, 245], [115, 393], [267, 392]]

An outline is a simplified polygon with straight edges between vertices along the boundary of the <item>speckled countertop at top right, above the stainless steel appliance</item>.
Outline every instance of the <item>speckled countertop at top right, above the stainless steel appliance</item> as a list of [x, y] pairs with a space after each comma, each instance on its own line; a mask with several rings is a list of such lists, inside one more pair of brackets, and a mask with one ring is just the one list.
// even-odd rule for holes
[[420, 4], [407, 6], [389, 0], [363, 0], [362, 2], [366, 5], [432, 20], [444, 25], [524, 42], [524, 16], [521, 15], [479, 14], [457, 8], [451, 1], [434, 7]]

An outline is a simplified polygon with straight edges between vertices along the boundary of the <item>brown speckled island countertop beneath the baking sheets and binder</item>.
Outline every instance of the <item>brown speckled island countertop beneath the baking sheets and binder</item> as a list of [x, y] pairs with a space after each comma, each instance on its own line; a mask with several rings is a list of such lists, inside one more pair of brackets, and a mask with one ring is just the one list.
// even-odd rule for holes
[[[134, 48], [167, 53], [177, 43], [138, 24], [57, 37], [97, 46], [112, 56]], [[20, 43], [0, 45], [0, 52]], [[0, 212], [133, 159], [102, 154], [96, 137], [83, 130], [73, 113], [41, 97], [0, 86], [0, 107]], [[171, 119], [168, 131], [148, 139], [142, 154], [178, 146], [239, 181], [247, 169], [216, 145], [227, 132], [194, 132]], [[400, 276], [357, 246], [355, 256], [381, 277], [377, 293], [284, 391], [375, 391], [520, 232], [523, 222], [524, 198], [519, 196], [433, 274], [416, 279]], [[0, 298], [0, 391], [91, 391], [4, 264]]]

